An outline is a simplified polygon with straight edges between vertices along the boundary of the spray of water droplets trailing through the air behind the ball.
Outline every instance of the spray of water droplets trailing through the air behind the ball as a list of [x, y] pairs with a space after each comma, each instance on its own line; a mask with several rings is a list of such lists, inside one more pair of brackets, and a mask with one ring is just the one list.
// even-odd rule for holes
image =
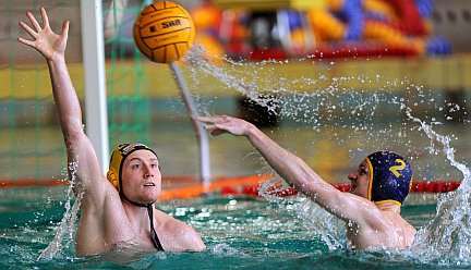
[[[333, 76], [336, 72], [331, 65], [305, 59], [247, 62], [218, 58], [215, 63], [200, 46], [192, 47], [185, 60], [197, 101], [198, 94], [207, 89], [235, 91], [280, 120], [302, 123], [314, 131], [324, 127], [326, 122], [340, 128], [371, 130], [369, 124], [378, 122], [375, 118], [389, 115], [385, 105], [396, 105], [390, 110], [399, 111], [399, 98], [390, 94], [408, 84], [407, 79], [383, 82], [381, 75]], [[311, 68], [306, 76], [297, 71]], [[365, 89], [352, 89], [352, 84], [364, 85]], [[377, 90], [367, 90], [373, 84], [379, 85]], [[408, 87], [414, 90], [413, 86]], [[198, 103], [198, 111], [213, 113], [202, 103]]]

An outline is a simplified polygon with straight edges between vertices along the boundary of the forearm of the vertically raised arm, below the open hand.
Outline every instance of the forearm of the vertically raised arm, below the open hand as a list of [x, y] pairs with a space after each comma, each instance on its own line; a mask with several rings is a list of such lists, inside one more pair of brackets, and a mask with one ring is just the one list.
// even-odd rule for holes
[[82, 111], [63, 56], [48, 60], [52, 94], [65, 143], [83, 133]]

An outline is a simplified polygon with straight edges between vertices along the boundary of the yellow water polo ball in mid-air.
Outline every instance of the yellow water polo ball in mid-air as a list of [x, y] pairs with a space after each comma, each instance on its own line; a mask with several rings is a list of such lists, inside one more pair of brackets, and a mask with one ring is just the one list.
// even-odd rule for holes
[[141, 52], [154, 62], [170, 63], [184, 57], [195, 37], [193, 20], [181, 5], [154, 2], [145, 7], [133, 28]]

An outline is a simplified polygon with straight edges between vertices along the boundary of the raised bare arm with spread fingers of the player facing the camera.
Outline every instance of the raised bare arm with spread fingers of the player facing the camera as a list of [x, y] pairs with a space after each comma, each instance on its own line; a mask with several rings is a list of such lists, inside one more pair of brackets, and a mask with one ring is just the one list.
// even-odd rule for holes
[[[61, 34], [57, 35], [49, 26], [49, 19], [44, 8], [40, 9], [40, 13], [43, 27], [31, 12], [27, 12], [26, 15], [32, 27], [24, 22], [19, 23], [33, 37], [33, 40], [21, 37], [17, 40], [36, 49], [47, 61], [53, 99], [68, 152], [69, 174], [71, 179], [76, 181], [74, 192], [77, 195], [83, 188], [88, 187], [90, 183], [96, 184], [97, 177], [104, 176], [94, 148], [83, 131], [78, 98], [65, 64], [64, 53], [69, 34], [69, 21], [63, 23]], [[71, 165], [72, 163], [75, 165]], [[74, 167], [78, 169], [74, 169]]]

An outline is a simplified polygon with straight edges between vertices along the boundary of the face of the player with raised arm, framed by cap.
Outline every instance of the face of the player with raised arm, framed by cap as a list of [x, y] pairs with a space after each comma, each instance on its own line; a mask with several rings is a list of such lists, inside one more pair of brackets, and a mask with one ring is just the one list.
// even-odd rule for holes
[[157, 157], [148, 150], [132, 152], [123, 163], [122, 185], [125, 196], [140, 204], [150, 204], [161, 192]]

